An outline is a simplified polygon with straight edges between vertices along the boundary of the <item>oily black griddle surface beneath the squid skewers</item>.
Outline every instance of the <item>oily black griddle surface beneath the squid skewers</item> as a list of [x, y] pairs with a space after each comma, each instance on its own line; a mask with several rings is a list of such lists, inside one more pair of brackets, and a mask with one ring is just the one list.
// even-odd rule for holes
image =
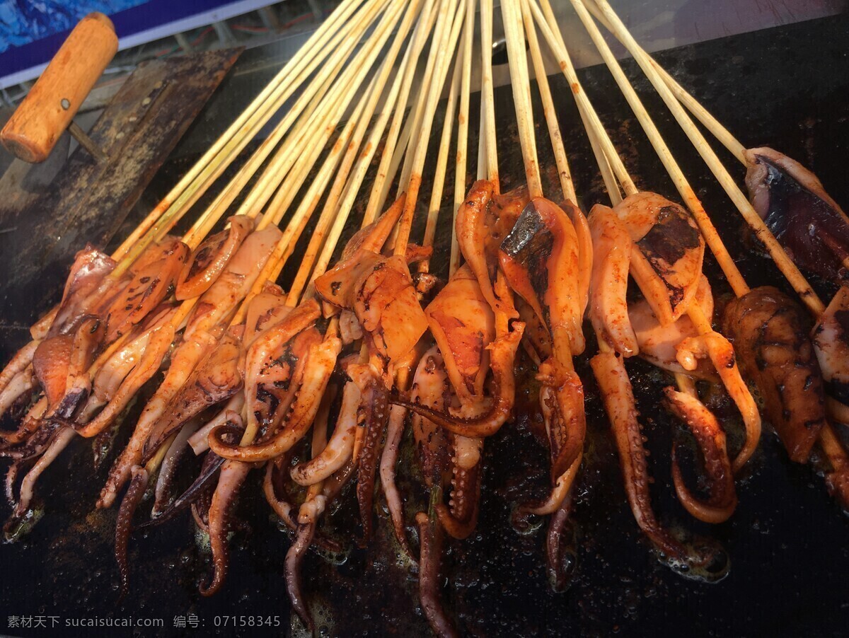
[[[239, 64], [245, 59], [250, 58]], [[771, 145], [798, 159], [819, 176], [834, 199], [849, 205], [849, 16], [702, 42], [660, 53], [657, 59], [743, 143]], [[224, 95], [228, 82], [239, 81], [239, 64], [237, 79], [225, 82]], [[772, 262], [751, 250], [739, 215], [635, 64], [629, 61], [625, 68], [629, 76], [640, 78], [636, 86], [649, 113], [749, 283], [789, 290]], [[606, 68], [582, 70], [580, 75], [638, 187], [677, 199]], [[604, 189], [565, 80], [553, 76], [550, 81], [577, 191], [588, 209], [606, 201]], [[541, 164], [554, 166], [535, 87], [531, 93]], [[506, 190], [519, 185], [524, 175], [509, 87], [497, 89], [495, 96], [499, 165]], [[473, 114], [477, 105], [473, 97]], [[437, 135], [440, 125], [437, 121], [434, 126]], [[470, 130], [477, 131], [475, 116]], [[475, 140], [469, 148], [476, 148]], [[721, 156], [742, 183], [742, 166], [724, 151]], [[194, 158], [171, 162], [160, 171], [145, 195], [148, 203], [167, 191], [188, 169], [190, 160]], [[433, 154], [430, 161], [432, 168]], [[554, 172], [548, 171], [543, 179], [546, 192], [556, 194]], [[452, 188], [449, 176], [446, 193]], [[430, 185], [424, 184], [422, 193], [429, 192]], [[419, 212], [423, 210], [424, 203], [419, 206]], [[447, 210], [446, 199], [443, 213]], [[449, 245], [448, 216], [442, 215], [437, 250], [447, 250]], [[353, 232], [353, 226], [348, 232]], [[421, 232], [421, 225], [414, 227], [412, 237], [420, 238]], [[309, 234], [307, 230], [305, 237]], [[301, 247], [295, 255], [300, 253]], [[295, 261], [283, 273], [284, 287], [294, 274]], [[434, 266], [445, 261], [435, 260]], [[706, 272], [717, 297], [730, 293], [712, 257], [706, 258]], [[833, 292], [827, 283], [813, 283], [824, 296]], [[0, 277], [0, 286], [6, 285]], [[23, 305], [27, 301], [20, 299]], [[33, 318], [37, 310], [41, 309], [33, 309]], [[588, 355], [593, 351], [594, 344], [588, 344]], [[575, 556], [571, 586], [555, 593], [548, 585], [544, 527], [523, 535], [510, 525], [514, 502], [542, 495], [547, 481], [547, 452], [534, 434], [538, 416], [532, 388], [526, 384], [517, 401], [517, 422], [505, 425], [487, 441], [481, 518], [475, 534], [448, 545], [445, 604], [464, 635], [846, 635], [849, 521], [826, 494], [816, 469], [791, 464], [776, 436], [765, 428], [758, 451], [738, 481], [739, 506], [734, 517], [713, 527], [695, 523], [675, 500], [670, 479], [672, 440], [686, 442], [686, 434], [659, 408], [661, 388], [669, 379], [641, 361], [629, 361], [649, 437], [655, 511], [667, 524], [710, 535], [731, 558], [728, 576], [717, 584], [683, 579], [658, 562], [633, 521], [586, 358], [577, 367], [588, 396], [588, 445], [569, 534]], [[739, 423], [729, 417], [726, 425], [730, 445], [739, 445]], [[408, 443], [402, 463], [409, 459]], [[184, 479], [189, 480], [189, 470], [196, 468], [185, 469]], [[230, 573], [217, 596], [205, 599], [197, 592], [198, 580], [209, 569], [209, 556], [196, 540], [194, 523], [182, 516], [133, 537], [132, 589], [119, 604], [112, 557], [115, 510], [93, 510], [106, 470], [94, 471], [90, 446], [77, 442], [42, 477], [38, 491], [46, 503], [44, 518], [24, 540], [0, 547], [0, 633], [233, 635], [233, 620], [222, 616], [240, 614], [278, 617], [279, 621], [277, 627], [240, 628], [240, 635], [302, 632], [292, 619], [282, 576], [290, 536], [278, 529], [261, 498], [258, 473], [243, 490], [239, 512], [247, 529], [233, 538]], [[403, 492], [410, 501], [418, 501], [408, 503], [413, 512], [422, 505], [422, 495], [413, 487], [415, 477], [407, 473], [401, 479]], [[354, 501], [348, 492], [343, 506], [329, 518], [330, 529], [350, 539], [359, 534]], [[304, 562], [304, 587], [320, 635], [429, 634], [418, 605], [417, 580], [391, 540], [382, 499], [377, 503], [379, 529], [367, 550], [351, 544], [354, 549], [344, 560], [337, 557], [342, 564], [332, 564], [315, 553]], [[39, 615], [58, 617], [59, 627], [8, 628], [10, 616]], [[188, 617], [185, 627], [175, 626], [181, 623], [180, 617]], [[164, 626], [83, 630], [65, 626], [70, 618], [160, 618]]]

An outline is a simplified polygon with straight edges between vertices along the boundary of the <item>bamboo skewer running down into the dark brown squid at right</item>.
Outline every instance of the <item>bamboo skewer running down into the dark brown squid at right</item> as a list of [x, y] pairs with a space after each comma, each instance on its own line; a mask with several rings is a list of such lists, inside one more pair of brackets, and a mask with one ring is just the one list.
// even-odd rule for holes
[[608, 69], [610, 69], [610, 73], [612, 73], [616, 79], [616, 84], [627, 99], [628, 104], [630, 104], [634, 115], [637, 115], [637, 119], [639, 120], [640, 125], [643, 126], [644, 132], [649, 137], [651, 145], [655, 148], [655, 152], [666, 167], [666, 172], [672, 177], [672, 182], [674, 182], [675, 187], [678, 188], [678, 193], [681, 194], [681, 197], [687, 204], [687, 208], [689, 208], [690, 212], [693, 213], [693, 217], [696, 223], [699, 224], [702, 235], [705, 237], [707, 244], [711, 247], [711, 252], [717, 258], [717, 262], [719, 262], [722, 272], [725, 273], [725, 277], [728, 278], [728, 283], [734, 290], [734, 294], [738, 297], [743, 296], [749, 292], [750, 288], [745, 283], [743, 275], [740, 274], [739, 268], [734, 263], [731, 255], [728, 254], [728, 249], [726, 249], [725, 244], [722, 243], [722, 239], [719, 237], [716, 227], [713, 226], [711, 218], [705, 212], [705, 209], [701, 205], [698, 196], [696, 196], [693, 187], [690, 186], [687, 178], [681, 170], [681, 167], [678, 165], [678, 162], [675, 161], [674, 157], [672, 157], [672, 152], [669, 150], [669, 147], [666, 146], [666, 142], [664, 142], [661, 132], [657, 130], [657, 126], [655, 126], [649, 112], [645, 109], [642, 101], [637, 95], [637, 92], [634, 91], [633, 86], [631, 86], [631, 82], [628, 81], [620, 64], [616, 61], [616, 56], [614, 56], [613, 52], [610, 50], [607, 42], [604, 41], [604, 36], [601, 35], [601, 31], [599, 31], [598, 26], [596, 26], [595, 22], [593, 22], [593, 18], [588, 13], [587, 8], [584, 7], [582, 0], [571, 0], [571, 3], [575, 8], [578, 17], [586, 27], [590, 37], [593, 39], [595, 47], [599, 50], [599, 53], [601, 53], [604, 63], [607, 64]]

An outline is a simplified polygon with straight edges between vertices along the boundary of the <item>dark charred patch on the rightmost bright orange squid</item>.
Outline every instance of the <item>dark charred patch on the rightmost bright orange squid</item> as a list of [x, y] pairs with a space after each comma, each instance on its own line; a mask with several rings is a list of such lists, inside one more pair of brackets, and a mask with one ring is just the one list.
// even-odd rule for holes
[[658, 212], [657, 223], [637, 242], [649, 264], [669, 289], [669, 303], [674, 311], [681, 303], [684, 290], [669, 283], [669, 273], [687, 251], [699, 248], [699, 230], [680, 206], [664, 206]]

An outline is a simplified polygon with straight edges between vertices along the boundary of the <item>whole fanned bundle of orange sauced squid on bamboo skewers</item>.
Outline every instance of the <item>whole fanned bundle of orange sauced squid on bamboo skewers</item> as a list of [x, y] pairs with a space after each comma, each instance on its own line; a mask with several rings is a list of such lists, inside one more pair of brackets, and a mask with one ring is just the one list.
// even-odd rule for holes
[[[209, 538], [212, 574], [200, 592], [220, 590], [233, 506], [256, 470], [268, 505], [290, 529], [284, 578], [295, 612], [312, 626], [301, 563], [311, 547], [341, 550], [319, 523], [335, 502], [356, 498], [357, 542], [368, 544], [380, 484], [398, 546], [418, 571], [424, 615], [437, 634], [456, 635], [441, 603], [441, 556], [475, 529], [486, 439], [514, 418], [520, 365], [538, 382], [550, 487], [521, 504], [516, 518], [548, 517], [549, 573], [556, 586], [567, 579], [561, 537], [587, 429], [575, 365], [593, 343], [585, 327], [598, 344], [589, 361], [629, 505], [661, 560], [680, 574], [722, 578], [728, 557], [709, 539], [667, 529], [653, 510], [631, 357], [668, 376], [657, 399], [693, 435], [699, 486], [688, 483], [677, 446], [672, 480], [694, 518], [733, 516], [735, 476], [756, 451], [761, 411], [790, 459], [808, 462], [816, 451], [829, 490], [849, 503], [849, 457], [837, 430], [849, 422], [849, 294], [841, 288], [826, 306], [802, 274], [843, 283], [846, 215], [795, 161], [743, 148], [639, 47], [605, 0], [571, 3], [683, 205], [638, 191], [581, 87], [548, 0], [501, 3], [526, 172], [526, 186], [507, 193], [498, 173], [492, 0], [345, 0], [115, 254], [87, 246], [76, 255], [59, 304], [4, 368], [0, 412], [14, 422], [0, 432], [0, 455], [10, 461], [7, 536], [37, 522], [37, 480], [67, 447], [93, 439], [107, 449], [124, 429], [129, 441], [96, 504], [118, 508], [122, 595], [131, 586], [132, 534], [177, 516], [194, 518]], [[632, 53], [804, 308], [778, 288], [745, 283], [599, 25]], [[588, 215], [571, 180], [543, 43], [571, 87], [609, 195]], [[475, 59], [481, 125], [477, 181], [469, 183]], [[556, 162], [560, 192], [548, 193], [556, 202], [543, 193], [531, 68]], [[743, 162], [751, 200], [688, 111]], [[433, 186], [421, 193], [432, 146]], [[430, 262], [449, 165], [453, 235], [441, 281]], [[213, 187], [188, 232], [171, 235]], [[359, 201], [366, 204], [357, 219]], [[360, 229], [342, 246], [351, 225]], [[423, 228], [420, 243], [411, 241], [414, 228]], [[306, 232], [283, 288], [280, 273]], [[703, 272], [706, 249], [736, 297], [721, 312]], [[723, 423], [706, 405], [705, 388], [727, 395], [737, 418]], [[127, 407], [137, 395], [148, 398], [132, 421]], [[408, 429], [413, 454], [402, 456]], [[727, 430], [741, 434], [736, 449]], [[177, 493], [189, 456], [202, 458], [200, 473]], [[425, 495], [412, 519], [405, 502], [413, 495], [396, 481], [402, 458], [415, 464]]]

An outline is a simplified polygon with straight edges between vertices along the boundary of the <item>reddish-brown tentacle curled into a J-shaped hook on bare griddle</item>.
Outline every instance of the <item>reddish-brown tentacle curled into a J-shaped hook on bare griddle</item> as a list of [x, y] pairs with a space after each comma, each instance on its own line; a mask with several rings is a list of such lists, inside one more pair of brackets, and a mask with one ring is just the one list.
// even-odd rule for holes
[[670, 411], [687, 423], [701, 451], [705, 478], [710, 496], [706, 501], [692, 494], [684, 483], [678, 464], [678, 445], [672, 445], [672, 479], [678, 500], [695, 518], [705, 523], [723, 523], [734, 513], [737, 494], [734, 490], [734, 471], [728, 459], [725, 432], [706, 406], [694, 396], [678, 392], [674, 388], [664, 389], [666, 404]]

